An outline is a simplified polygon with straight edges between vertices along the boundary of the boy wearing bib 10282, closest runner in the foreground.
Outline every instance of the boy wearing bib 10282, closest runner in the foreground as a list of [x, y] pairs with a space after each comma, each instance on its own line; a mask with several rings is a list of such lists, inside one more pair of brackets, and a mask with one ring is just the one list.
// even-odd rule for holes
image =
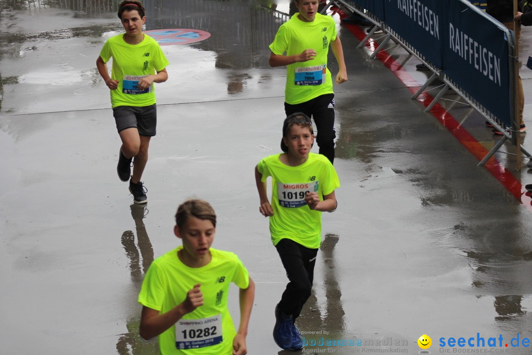
[[[183, 242], [155, 259], [138, 301], [144, 307], [140, 336], [159, 335], [161, 354], [244, 355], [255, 285], [237, 255], [211, 248], [216, 215], [202, 200], [176, 213], [174, 233]], [[227, 301], [229, 284], [240, 288], [240, 326], [235, 331]]]

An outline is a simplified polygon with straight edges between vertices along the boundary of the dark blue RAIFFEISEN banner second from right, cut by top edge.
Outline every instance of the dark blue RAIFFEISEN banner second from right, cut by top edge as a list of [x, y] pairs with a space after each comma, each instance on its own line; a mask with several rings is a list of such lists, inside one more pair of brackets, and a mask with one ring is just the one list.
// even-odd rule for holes
[[385, 0], [386, 24], [437, 68], [442, 68], [445, 12], [442, 0]]

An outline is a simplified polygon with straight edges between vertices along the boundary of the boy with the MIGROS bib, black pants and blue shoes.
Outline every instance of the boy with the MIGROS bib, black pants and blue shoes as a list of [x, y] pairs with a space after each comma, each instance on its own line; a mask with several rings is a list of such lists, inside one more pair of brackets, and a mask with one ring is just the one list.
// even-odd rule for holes
[[[325, 156], [310, 153], [313, 143], [310, 118], [296, 112], [282, 127], [284, 153], [267, 156], [255, 167], [259, 211], [270, 217], [271, 240], [290, 281], [276, 306], [273, 328], [273, 340], [287, 350], [303, 348], [295, 319], [311, 293], [321, 243], [321, 212], [332, 212], [338, 204], [338, 175]], [[272, 177], [271, 204], [268, 176]]]

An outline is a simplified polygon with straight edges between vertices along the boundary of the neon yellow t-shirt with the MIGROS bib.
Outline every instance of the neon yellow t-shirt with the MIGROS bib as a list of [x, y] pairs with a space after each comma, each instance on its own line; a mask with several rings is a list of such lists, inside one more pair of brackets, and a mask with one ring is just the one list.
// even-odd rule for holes
[[306, 162], [290, 167], [279, 160], [281, 154], [267, 156], [257, 164], [262, 181], [272, 177], [271, 241], [277, 245], [282, 238], [288, 238], [317, 249], [321, 242], [321, 212], [309, 208], [305, 193], [315, 192], [322, 200], [322, 195], [340, 187], [338, 175], [324, 155], [309, 153]]

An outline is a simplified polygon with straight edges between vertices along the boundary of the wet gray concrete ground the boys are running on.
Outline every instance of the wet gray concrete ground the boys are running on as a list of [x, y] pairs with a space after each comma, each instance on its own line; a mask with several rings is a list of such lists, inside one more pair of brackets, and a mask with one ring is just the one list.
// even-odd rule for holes
[[[95, 68], [106, 38], [121, 30], [114, 12], [2, 4], [2, 352], [156, 354], [156, 342], [138, 336], [137, 294], [153, 258], [178, 244], [177, 205], [196, 196], [218, 213], [214, 246], [237, 253], [257, 284], [249, 353], [291, 353], [271, 337], [286, 276], [253, 179], [255, 164], [279, 151], [285, 69], [268, 67], [268, 44], [283, 16], [254, 2], [146, 2], [147, 30], [193, 28], [211, 37], [163, 47], [169, 80], [157, 85], [144, 209], [116, 176], [120, 139]], [[277, 10], [288, 11], [288, 1]], [[305, 352], [418, 353], [423, 334], [433, 353], [439, 337], [532, 337], [530, 211], [338, 29], [350, 76], [335, 88], [342, 187], [338, 210], [323, 214], [313, 295], [298, 326], [318, 332], [307, 333], [309, 341], [364, 345]], [[527, 38], [525, 28], [522, 53]], [[393, 56], [415, 81], [426, 79], [415, 59], [400, 50]], [[330, 67], [336, 72], [334, 57]], [[526, 68], [521, 76], [532, 126], [532, 76]], [[498, 138], [476, 113], [444, 105], [493, 146]], [[512, 155], [496, 158], [523, 184], [532, 180], [515, 170]]]

